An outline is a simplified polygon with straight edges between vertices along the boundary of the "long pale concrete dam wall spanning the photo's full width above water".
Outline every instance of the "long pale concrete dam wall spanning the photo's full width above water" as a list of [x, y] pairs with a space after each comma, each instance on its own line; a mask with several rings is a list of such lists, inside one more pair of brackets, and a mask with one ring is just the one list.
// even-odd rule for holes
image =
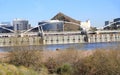
[[[86, 40], [87, 39], [87, 40]], [[28, 46], [46, 44], [69, 43], [96, 43], [120, 42], [120, 34], [89, 34], [89, 35], [49, 35], [43, 38], [34, 37], [1, 37], [0, 47], [3, 46]]]

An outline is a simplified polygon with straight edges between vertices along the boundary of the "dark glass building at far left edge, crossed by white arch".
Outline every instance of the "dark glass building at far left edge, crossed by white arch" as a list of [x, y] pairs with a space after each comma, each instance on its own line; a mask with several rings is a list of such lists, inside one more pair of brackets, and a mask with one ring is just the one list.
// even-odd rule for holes
[[8, 22], [2, 22], [0, 24], [0, 33], [11, 33], [13, 32], [13, 26], [10, 25]]

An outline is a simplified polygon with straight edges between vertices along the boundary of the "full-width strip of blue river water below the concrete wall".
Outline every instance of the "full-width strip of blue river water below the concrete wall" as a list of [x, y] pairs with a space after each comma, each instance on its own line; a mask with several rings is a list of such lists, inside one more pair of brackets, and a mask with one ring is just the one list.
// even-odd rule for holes
[[0, 47], [0, 52], [11, 51], [13, 49], [34, 49], [34, 50], [56, 50], [56, 49], [77, 49], [77, 50], [94, 50], [101, 48], [116, 48], [120, 42], [110, 43], [83, 43], [83, 44], [59, 44], [59, 45], [41, 45], [41, 46], [27, 46], [27, 47]]

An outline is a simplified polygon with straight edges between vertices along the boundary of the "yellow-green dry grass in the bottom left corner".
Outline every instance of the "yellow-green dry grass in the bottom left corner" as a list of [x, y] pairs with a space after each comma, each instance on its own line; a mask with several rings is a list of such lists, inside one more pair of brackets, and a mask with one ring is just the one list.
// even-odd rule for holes
[[0, 63], [0, 75], [39, 75], [37, 72], [20, 66]]

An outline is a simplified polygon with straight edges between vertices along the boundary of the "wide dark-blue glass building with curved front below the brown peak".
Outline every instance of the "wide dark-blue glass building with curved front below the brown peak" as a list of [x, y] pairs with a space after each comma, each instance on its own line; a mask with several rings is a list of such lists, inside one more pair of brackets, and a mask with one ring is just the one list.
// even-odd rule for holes
[[42, 26], [43, 31], [63, 31], [64, 22], [59, 20], [49, 20], [42, 21], [38, 23], [39, 26]]

